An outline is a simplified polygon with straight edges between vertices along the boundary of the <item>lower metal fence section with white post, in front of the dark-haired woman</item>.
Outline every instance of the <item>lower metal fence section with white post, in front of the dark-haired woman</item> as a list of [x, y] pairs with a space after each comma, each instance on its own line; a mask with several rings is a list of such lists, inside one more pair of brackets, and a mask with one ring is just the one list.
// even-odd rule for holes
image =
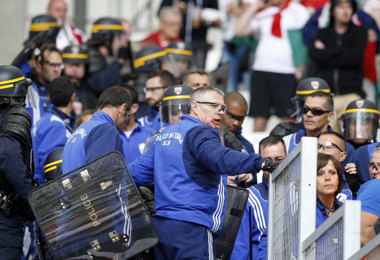
[[304, 259], [346, 260], [351, 257], [360, 249], [360, 214], [361, 201], [346, 200], [302, 242]]

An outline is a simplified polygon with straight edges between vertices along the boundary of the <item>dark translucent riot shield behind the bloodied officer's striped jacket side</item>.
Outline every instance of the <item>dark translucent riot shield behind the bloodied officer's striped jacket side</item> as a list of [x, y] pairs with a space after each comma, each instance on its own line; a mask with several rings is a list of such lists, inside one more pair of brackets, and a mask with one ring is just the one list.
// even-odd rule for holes
[[[215, 260], [230, 260], [237, 232], [247, 205], [249, 191], [247, 189], [227, 185], [226, 217], [220, 236], [215, 239]], [[248, 243], [247, 237], [247, 243]]]

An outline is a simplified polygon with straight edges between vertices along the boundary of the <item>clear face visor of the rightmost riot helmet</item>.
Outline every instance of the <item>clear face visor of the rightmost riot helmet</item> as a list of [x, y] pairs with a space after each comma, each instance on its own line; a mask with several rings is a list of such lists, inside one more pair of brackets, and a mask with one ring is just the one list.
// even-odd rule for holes
[[376, 140], [379, 128], [379, 115], [369, 112], [353, 112], [342, 116], [344, 138], [355, 144], [365, 144]]

